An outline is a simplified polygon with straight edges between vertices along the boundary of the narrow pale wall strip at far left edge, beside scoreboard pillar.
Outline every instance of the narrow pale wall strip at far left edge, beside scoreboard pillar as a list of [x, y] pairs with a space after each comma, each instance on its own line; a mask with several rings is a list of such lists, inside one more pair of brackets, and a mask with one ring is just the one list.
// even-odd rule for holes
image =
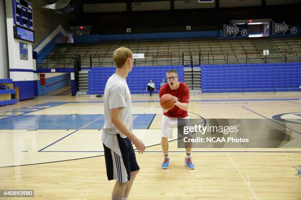
[[0, 0], [0, 79], [9, 78], [5, 1]]

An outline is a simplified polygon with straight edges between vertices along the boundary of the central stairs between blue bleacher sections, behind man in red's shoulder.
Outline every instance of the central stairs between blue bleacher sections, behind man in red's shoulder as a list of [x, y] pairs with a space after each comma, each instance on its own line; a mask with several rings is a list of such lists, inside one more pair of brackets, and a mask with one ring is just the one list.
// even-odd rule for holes
[[201, 90], [201, 67], [184, 67], [184, 82], [190, 93]]

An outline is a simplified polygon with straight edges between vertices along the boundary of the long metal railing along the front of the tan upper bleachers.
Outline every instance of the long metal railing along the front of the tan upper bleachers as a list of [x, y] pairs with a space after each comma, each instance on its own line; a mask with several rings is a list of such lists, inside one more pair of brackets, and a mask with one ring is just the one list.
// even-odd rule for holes
[[[48, 55], [37, 58], [37, 68], [73, 68], [75, 55]], [[112, 55], [82, 54], [81, 67], [113, 67], [115, 63]], [[249, 63], [276, 63], [301, 62], [301, 50], [270, 50], [270, 55], [263, 55], [258, 50], [229, 51], [185, 51], [185, 52], [147, 52], [144, 59], [135, 59], [134, 66], [160, 66], [160, 65], [207, 65], [207, 64], [249, 64]]]

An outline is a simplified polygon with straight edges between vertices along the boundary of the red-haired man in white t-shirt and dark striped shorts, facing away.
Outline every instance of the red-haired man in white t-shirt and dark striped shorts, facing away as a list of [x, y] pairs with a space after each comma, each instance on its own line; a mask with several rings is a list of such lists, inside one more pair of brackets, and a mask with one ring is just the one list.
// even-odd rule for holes
[[112, 200], [127, 200], [140, 169], [132, 143], [139, 153], [143, 153], [145, 145], [132, 133], [131, 94], [126, 83], [126, 77], [133, 67], [132, 52], [120, 47], [114, 51], [113, 59], [116, 72], [108, 79], [104, 91], [102, 143], [108, 179], [117, 179]]

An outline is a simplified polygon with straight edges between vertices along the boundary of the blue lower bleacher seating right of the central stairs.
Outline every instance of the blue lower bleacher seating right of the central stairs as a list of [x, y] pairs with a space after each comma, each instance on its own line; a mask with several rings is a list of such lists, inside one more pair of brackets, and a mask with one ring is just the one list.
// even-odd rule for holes
[[202, 92], [301, 91], [301, 63], [203, 65]]

